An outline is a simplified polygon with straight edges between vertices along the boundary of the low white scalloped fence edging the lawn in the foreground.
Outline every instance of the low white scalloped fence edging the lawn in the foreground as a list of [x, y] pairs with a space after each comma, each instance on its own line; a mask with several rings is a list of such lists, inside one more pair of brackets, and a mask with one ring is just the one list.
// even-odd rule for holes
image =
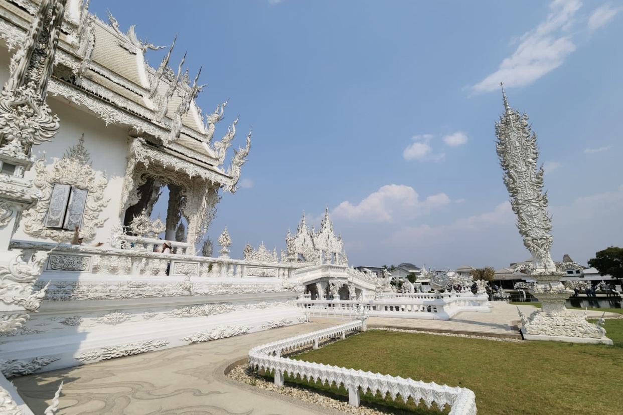
[[283, 386], [285, 373], [293, 377], [299, 376], [301, 379], [305, 377], [309, 381], [320, 380], [323, 384], [343, 385], [345, 389], [348, 389], [349, 402], [353, 406], [359, 406], [359, 390], [365, 392], [369, 389], [372, 393], [381, 393], [383, 396], [389, 393], [394, 400], [398, 394], [403, 401], [407, 401], [409, 397], [416, 403], [423, 400], [429, 408], [433, 402], [440, 409], [449, 405], [450, 415], [476, 414], [475, 394], [467, 388], [451, 388], [447, 385], [437, 385], [434, 382], [424, 383], [414, 381], [411, 378], [403, 379], [400, 376], [381, 375], [370, 371], [364, 372], [363, 370], [281, 357], [285, 352], [310, 345], [318, 347], [323, 339], [338, 336], [344, 338], [346, 333], [364, 331], [365, 329], [365, 320], [358, 320], [257, 346], [249, 351], [249, 365], [266, 371], [274, 371], [275, 385], [277, 386]]

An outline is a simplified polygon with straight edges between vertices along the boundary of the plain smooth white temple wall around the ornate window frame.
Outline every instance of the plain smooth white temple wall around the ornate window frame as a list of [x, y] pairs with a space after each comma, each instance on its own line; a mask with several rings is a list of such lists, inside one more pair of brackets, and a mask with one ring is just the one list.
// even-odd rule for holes
[[[108, 205], [100, 213], [100, 218], [108, 218], [107, 221], [105, 221], [102, 228], [97, 228], [95, 238], [92, 241], [85, 241], [85, 244], [105, 242], [110, 237], [113, 226], [117, 225], [118, 222], [119, 205], [121, 203], [120, 189], [123, 187], [123, 177], [127, 163], [128, 132], [125, 128], [112, 124], [106, 126], [97, 116], [82, 110], [82, 107], [70, 105], [63, 98], [55, 97], [49, 99], [48, 103], [50, 108], [52, 108], [52, 113], [59, 116], [60, 130], [53, 141], [34, 146], [32, 152], [35, 159], [43, 157], [45, 152], [45, 164], [46, 166], [51, 166], [55, 161], [61, 159], [70, 147], [76, 146], [80, 137], [84, 134], [83, 145], [90, 155], [93, 169], [98, 174], [105, 172], [108, 178], [104, 198], [109, 200]], [[25, 179], [32, 180], [35, 177], [36, 172], [34, 169], [24, 174]], [[36, 238], [27, 235], [24, 232], [23, 223], [21, 223], [13, 238], [19, 240], [51, 241], [49, 238]]]

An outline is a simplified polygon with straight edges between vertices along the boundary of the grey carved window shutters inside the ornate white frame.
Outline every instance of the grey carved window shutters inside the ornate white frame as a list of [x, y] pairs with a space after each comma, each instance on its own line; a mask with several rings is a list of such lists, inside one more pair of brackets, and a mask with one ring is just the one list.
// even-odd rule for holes
[[54, 184], [44, 224], [48, 228], [74, 230], [82, 225], [88, 190]]

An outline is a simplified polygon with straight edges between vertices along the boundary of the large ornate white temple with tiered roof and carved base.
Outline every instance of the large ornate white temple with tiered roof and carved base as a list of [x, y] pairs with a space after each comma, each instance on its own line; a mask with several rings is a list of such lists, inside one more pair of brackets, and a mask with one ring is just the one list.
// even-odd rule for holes
[[216, 135], [227, 101], [202, 113], [199, 74], [169, 62], [174, 46], [150, 67], [154, 45], [82, 0], [2, 0], [0, 12], [2, 373], [304, 321], [288, 279], [300, 264], [231, 259], [226, 230], [218, 258], [197, 256], [250, 132], [228, 156], [237, 120]]

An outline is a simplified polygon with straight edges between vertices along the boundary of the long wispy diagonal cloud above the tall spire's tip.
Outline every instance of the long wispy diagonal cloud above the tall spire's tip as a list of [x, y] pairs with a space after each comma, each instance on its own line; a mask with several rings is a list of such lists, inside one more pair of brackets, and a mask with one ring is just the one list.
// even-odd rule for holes
[[498, 90], [506, 86], [525, 86], [558, 68], [564, 58], [576, 50], [571, 35], [562, 32], [573, 26], [574, 16], [582, 6], [579, 0], [554, 0], [549, 4], [547, 19], [520, 37], [520, 44], [505, 58], [496, 72], [472, 88], [476, 92]]

